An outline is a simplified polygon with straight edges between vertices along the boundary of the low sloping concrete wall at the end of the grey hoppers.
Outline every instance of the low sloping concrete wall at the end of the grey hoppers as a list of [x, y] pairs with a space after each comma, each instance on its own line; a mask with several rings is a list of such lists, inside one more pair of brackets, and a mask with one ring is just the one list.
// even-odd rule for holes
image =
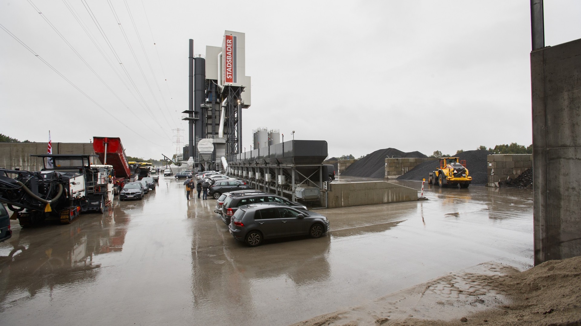
[[416, 201], [418, 191], [385, 181], [332, 183], [329, 208]]

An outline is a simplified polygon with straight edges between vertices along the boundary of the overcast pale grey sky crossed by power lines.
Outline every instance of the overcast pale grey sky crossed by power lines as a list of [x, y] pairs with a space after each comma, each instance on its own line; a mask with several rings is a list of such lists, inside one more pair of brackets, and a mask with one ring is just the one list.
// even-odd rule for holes
[[[20, 140], [118, 136], [128, 155], [174, 154], [171, 129], [187, 130], [188, 39], [204, 54], [232, 30], [246, 33], [252, 77], [246, 150], [259, 126], [327, 140], [330, 156], [532, 142], [529, 1], [32, 3], [95, 73], [29, 2], [0, 0], [0, 24], [119, 121], [0, 30], [0, 133]], [[581, 1], [545, 1], [546, 44], [581, 38], [580, 14]]]

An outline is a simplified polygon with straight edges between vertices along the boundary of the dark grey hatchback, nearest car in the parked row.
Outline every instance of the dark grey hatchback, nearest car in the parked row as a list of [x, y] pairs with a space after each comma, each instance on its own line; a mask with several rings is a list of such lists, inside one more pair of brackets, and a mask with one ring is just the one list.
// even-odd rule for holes
[[236, 240], [256, 247], [270, 238], [321, 237], [329, 230], [329, 220], [319, 213], [268, 202], [242, 205], [232, 216], [228, 230]]

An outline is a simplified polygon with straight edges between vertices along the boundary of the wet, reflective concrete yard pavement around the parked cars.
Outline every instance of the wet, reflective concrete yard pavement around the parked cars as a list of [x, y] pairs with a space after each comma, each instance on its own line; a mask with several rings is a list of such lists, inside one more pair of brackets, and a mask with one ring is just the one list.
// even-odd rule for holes
[[13, 221], [2, 324], [288, 325], [482, 262], [533, 262], [530, 190], [426, 184], [427, 201], [323, 209], [327, 236], [248, 248], [182, 183], [70, 225]]

